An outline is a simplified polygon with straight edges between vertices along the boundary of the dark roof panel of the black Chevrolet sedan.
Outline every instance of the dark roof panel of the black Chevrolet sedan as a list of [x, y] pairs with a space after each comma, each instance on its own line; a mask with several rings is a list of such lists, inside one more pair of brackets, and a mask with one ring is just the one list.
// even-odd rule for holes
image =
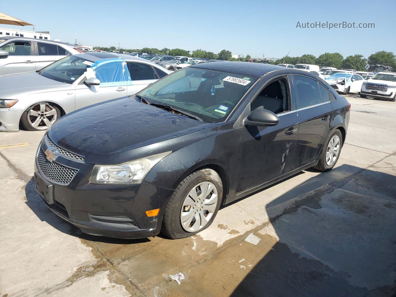
[[[251, 62], [231, 62], [231, 61], [221, 61], [221, 62], [211, 62], [211, 63], [200, 63], [192, 65], [190, 67], [223, 71], [228, 73], [234, 73], [245, 76], [261, 77], [266, 73], [273, 70], [285, 70], [285, 67], [264, 64], [264, 63], [251, 63]], [[289, 71], [293, 68], [289, 68]], [[301, 73], [301, 72], [297, 72]]]

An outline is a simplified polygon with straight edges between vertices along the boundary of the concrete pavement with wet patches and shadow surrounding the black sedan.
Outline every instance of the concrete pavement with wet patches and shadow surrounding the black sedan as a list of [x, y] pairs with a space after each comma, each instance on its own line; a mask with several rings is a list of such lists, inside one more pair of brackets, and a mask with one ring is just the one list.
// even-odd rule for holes
[[[44, 132], [0, 133], [0, 297], [394, 296], [396, 104], [348, 101], [333, 170], [308, 169], [222, 207], [181, 240], [83, 234], [34, 190]], [[169, 278], [178, 272], [180, 285]]]

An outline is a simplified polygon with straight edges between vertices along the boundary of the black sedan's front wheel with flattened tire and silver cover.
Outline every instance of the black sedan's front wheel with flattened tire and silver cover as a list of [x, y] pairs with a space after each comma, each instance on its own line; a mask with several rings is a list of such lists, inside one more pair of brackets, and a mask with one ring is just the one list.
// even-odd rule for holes
[[223, 183], [216, 171], [197, 170], [181, 181], [166, 206], [161, 232], [177, 239], [208, 228], [220, 208]]

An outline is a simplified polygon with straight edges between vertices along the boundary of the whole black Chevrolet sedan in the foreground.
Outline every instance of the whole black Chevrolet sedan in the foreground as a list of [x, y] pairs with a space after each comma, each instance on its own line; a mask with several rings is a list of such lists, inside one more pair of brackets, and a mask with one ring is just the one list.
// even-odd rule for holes
[[348, 101], [309, 72], [202, 63], [57, 120], [37, 151], [36, 189], [83, 232], [183, 238], [221, 204], [332, 169], [349, 115]]

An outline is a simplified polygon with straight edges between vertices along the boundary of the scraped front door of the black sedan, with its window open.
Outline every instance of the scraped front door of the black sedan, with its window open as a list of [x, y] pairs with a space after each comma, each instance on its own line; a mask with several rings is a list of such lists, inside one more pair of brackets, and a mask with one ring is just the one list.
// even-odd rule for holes
[[[250, 104], [250, 111], [263, 107], [279, 117], [270, 127], [245, 126], [241, 129], [241, 161], [237, 192], [262, 185], [294, 169], [299, 130], [297, 111], [291, 104], [288, 78], [271, 81]], [[249, 108], [249, 107], [247, 107]]]

